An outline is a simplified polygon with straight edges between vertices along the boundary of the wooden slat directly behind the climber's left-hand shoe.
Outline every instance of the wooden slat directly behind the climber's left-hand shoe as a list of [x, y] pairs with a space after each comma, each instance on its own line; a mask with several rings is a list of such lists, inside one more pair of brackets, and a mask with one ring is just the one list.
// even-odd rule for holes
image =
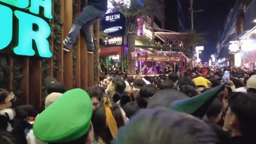
[[[64, 1], [64, 36], [68, 35], [68, 32], [72, 26], [73, 21], [73, 0]], [[62, 49], [63, 50], [63, 49]], [[73, 88], [73, 50], [70, 52], [64, 52], [64, 85], [67, 90]]]

